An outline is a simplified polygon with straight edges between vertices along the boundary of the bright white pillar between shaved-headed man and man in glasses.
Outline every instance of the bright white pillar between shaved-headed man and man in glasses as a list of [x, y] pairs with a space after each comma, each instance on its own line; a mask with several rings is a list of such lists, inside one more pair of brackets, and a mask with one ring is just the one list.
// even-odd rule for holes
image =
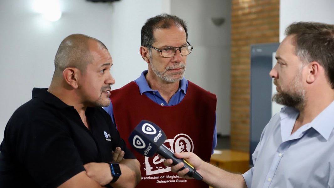
[[139, 54], [141, 28], [148, 18], [169, 13], [170, 1], [121, 0], [113, 5], [108, 35], [114, 64], [111, 73], [116, 80], [112, 89], [117, 89], [137, 79], [147, 69], [147, 63]]

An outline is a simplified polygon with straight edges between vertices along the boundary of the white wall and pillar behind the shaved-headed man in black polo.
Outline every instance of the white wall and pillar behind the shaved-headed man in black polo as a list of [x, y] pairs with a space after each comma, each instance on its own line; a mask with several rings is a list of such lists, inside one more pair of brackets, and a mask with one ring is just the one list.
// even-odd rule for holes
[[147, 68], [139, 56], [141, 26], [170, 10], [169, 0], [59, 1], [63, 15], [56, 22], [34, 12], [33, 0], [0, 1], [0, 142], [8, 119], [31, 99], [32, 88], [49, 86], [63, 38], [83, 33], [104, 42], [115, 64], [113, 88], [119, 88]]

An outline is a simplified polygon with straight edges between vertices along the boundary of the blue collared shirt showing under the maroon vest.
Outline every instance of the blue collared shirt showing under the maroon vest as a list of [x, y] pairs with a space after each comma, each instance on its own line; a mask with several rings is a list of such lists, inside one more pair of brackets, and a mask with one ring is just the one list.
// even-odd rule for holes
[[[140, 91], [141, 95], [145, 94], [149, 99], [156, 102], [157, 104], [160, 104], [161, 106], [177, 105], [185, 97], [187, 89], [188, 89], [188, 81], [185, 78], [183, 78], [180, 81], [179, 89], [170, 98], [169, 102], [167, 103], [165, 101], [165, 99], [160, 95], [158, 90], [152, 90], [149, 87], [149, 85], [146, 81], [146, 78], [145, 78], [145, 75], [147, 74], [147, 72], [148, 72], [147, 70], [143, 71], [142, 74], [140, 75], [140, 77], [135, 80], [136, 84], [139, 87], [139, 91]], [[115, 118], [114, 118], [113, 104], [110, 103], [110, 105], [108, 107], [104, 107], [103, 109], [105, 109], [108, 112], [108, 114], [111, 116], [111, 119], [112, 119], [113, 123], [116, 125]], [[211, 154], [213, 154], [213, 150], [216, 148], [216, 146], [217, 146], [217, 129], [216, 129], [216, 120], [215, 120]]]

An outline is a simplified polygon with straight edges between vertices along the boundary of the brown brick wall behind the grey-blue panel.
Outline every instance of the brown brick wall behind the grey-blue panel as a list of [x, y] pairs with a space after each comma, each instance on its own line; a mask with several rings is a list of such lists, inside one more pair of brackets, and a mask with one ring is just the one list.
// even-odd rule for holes
[[279, 42], [280, 0], [232, 0], [231, 149], [249, 151], [250, 45]]

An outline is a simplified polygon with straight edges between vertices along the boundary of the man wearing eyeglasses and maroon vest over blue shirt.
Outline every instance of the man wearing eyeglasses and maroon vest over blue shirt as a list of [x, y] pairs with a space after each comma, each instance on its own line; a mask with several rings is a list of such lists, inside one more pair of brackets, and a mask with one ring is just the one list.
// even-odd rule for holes
[[[148, 70], [112, 91], [112, 104], [105, 110], [121, 136], [128, 137], [142, 119], [149, 120], [164, 130], [164, 144], [172, 151], [181, 152], [179, 143], [183, 140], [183, 148], [209, 161], [217, 143], [216, 95], [183, 77], [187, 55], [193, 49], [187, 38], [187, 26], [179, 17], [162, 14], [149, 18], [141, 30], [139, 50]], [[138, 187], [208, 187], [201, 181], [175, 176], [158, 156], [134, 154], [141, 163]]]

